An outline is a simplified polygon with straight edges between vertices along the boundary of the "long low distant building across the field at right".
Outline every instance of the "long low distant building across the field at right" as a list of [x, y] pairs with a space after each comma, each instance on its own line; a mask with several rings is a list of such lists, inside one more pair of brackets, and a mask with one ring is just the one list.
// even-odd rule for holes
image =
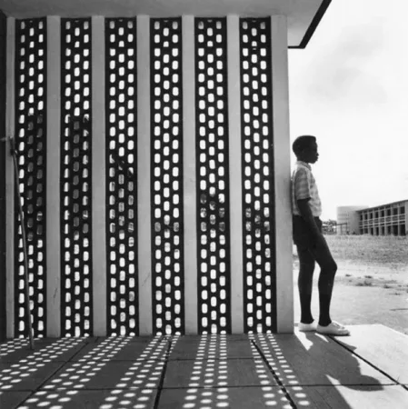
[[337, 234], [407, 235], [408, 200], [374, 207], [337, 207]]

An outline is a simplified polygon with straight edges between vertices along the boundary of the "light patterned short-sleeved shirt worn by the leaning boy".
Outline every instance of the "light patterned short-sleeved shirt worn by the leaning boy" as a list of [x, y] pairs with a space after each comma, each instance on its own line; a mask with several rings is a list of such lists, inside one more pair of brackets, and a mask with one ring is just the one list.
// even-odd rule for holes
[[296, 162], [292, 174], [292, 212], [296, 215], [300, 215], [296, 203], [299, 199], [310, 199], [308, 204], [314, 217], [322, 214], [322, 203], [312, 174], [312, 167], [302, 161]]

